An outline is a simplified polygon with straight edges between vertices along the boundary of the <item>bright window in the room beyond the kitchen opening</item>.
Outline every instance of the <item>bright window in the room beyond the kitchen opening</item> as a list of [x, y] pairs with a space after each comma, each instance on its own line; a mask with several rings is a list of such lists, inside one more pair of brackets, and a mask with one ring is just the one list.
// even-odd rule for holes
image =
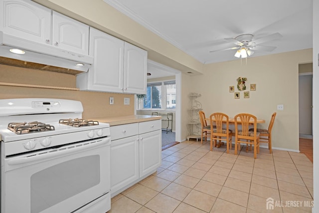
[[[166, 103], [166, 104], [165, 104]], [[176, 106], [175, 80], [148, 83], [144, 109], [174, 109]]]

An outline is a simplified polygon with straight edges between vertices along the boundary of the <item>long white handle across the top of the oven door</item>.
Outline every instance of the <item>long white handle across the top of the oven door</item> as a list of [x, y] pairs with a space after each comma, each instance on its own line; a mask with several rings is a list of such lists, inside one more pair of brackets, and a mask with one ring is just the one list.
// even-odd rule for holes
[[105, 138], [103, 140], [94, 140], [93, 142], [83, 142], [82, 144], [75, 144], [75, 145], [69, 145], [69, 146], [63, 146], [53, 151], [48, 151], [46, 153], [39, 152], [36, 155], [29, 155], [24, 156], [21, 158], [16, 159], [9, 159], [7, 160], [8, 165], [18, 165], [18, 164], [25, 164], [30, 163], [33, 161], [39, 161], [44, 159], [52, 159], [58, 156], [62, 155], [69, 155], [76, 152], [81, 152], [84, 150], [94, 149], [100, 146], [105, 146], [107, 143], [110, 144], [111, 139]]

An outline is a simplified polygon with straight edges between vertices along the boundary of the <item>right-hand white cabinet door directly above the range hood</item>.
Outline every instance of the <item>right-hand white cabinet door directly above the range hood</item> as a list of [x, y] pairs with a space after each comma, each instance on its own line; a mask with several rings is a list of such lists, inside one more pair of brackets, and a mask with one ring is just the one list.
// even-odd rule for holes
[[53, 11], [52, 44], [61, 49], [89, 54], [89, 26]]

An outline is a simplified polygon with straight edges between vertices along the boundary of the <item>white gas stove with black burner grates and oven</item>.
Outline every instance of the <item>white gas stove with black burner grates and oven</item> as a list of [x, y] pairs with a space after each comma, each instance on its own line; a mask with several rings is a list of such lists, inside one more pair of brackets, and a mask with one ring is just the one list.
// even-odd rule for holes
[[74, 100], [0, 100], [1, 212], [110, 209], [110, 126], [82, 112]]

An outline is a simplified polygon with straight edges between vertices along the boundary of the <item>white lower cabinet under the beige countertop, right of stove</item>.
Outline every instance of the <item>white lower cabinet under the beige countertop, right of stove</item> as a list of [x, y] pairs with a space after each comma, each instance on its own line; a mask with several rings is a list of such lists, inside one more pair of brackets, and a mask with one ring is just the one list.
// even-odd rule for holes
[[161, 120], [111, 126], [111, 197], [156, 172]]

